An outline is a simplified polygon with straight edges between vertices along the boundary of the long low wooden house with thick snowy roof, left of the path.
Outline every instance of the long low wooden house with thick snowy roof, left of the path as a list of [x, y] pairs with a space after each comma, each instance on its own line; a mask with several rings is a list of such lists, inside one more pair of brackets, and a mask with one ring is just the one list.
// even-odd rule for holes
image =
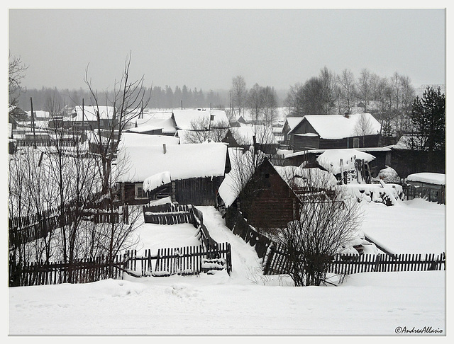
[[223, 143], [122, 147], [122, 160], [130, 166], [118, 176], [121, 200], [128, 204], [170, 196], [182, 205], [216, 205], [219, 185], [230, 171]]

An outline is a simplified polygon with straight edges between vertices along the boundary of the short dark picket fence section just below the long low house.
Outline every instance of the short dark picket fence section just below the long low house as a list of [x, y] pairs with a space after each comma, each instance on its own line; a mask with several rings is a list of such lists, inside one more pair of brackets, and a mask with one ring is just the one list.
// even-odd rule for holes
[[143, 206], [143, 219], [147, 224], [193, 224], [192, 205]]

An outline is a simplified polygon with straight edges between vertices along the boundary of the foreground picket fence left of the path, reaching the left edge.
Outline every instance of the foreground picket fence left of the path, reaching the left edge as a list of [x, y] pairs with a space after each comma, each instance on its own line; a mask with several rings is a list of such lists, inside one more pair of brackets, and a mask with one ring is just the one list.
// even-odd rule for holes
[[123, 278], [123, 272], [135, 277], [199, 275], [212, 270], [232, 271], [230, 243], [217, 243], [216, 247], [186, 246], [159, 248], [156, 255], [145, 250], [144, 256], [137, 251], [118, 254], [112, 262], [104, 256], [80, 259], [72, 264], [63, 262], [33, 262], [24, 265], [9, 260], [9, 286], [57, 285], [61, 283], [88, 283], [107, 278]]

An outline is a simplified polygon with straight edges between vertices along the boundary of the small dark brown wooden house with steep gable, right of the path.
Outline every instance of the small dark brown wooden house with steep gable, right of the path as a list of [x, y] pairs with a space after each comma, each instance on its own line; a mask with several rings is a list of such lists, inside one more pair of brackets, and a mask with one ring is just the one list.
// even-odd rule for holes
[[[245, 164], [249, 159], [246, 151], [243, 154]], [[289, 184], [280, 176], [266, 156], [258, 167], [254, 168], [241, 190], [238, 190], [238, 166], [233, 164], [232, 171], [226, 176], [219, 188], [219, 196], [223, 207], [233, 207], [240, 211], [248, 224], [256, 229], [274, 229], [286, 227], [288, 222], [295, 219], [299, 209], [299, 198]]]

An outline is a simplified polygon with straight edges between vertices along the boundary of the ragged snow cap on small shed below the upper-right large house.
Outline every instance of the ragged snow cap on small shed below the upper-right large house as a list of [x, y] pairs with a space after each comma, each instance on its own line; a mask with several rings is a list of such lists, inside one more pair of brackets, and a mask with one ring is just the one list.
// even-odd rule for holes
[[[342, 165], [341, 165], [342, 159]], [[356, 149], [327, 149], [316, 159], [320, 166], [334, 175], [343, 171], [350, 171], [355, 168], [355, 160], [364, 160], [369, 162], [375, 159], [375, 156], [358, 151]]]

